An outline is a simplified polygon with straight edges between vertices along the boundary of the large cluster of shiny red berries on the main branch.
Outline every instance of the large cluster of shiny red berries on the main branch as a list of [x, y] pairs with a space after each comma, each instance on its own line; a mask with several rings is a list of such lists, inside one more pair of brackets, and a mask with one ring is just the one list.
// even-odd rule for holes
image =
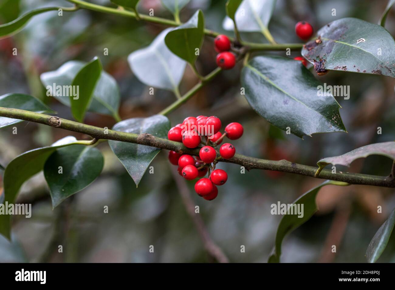
[[[216, 185], [223, 185], [228, 180], [225, 170], [215, 169], [219, 157], [217, 158], [214, 147], [221, 144], [225, 136], [230, 140], [235, 140], [240, 138], [244, 131], [241, 124], [233, 122], [225, 127], [225, 133], [222, 134], [221, 126], [221, 120], [216, 116], [188, 117], [167, 133], [169, 140], [182, 142], [188, 148], [198, 147], [202, 143], [201, 137], [205, 138], [206, 142], [203, 143], [205, 146], [200, 148], [199, 156], [169, 152], [170, 163], [178, 165], [178, 172], [185, 179], [201, 178], [209, 172], [209, 178], [201, 178], [195, 183], [196, 193], [205, 200], [216, 198], [218, 195]], [[224, 159], [232, 158], [236, 153], [235, 147], [230, 143], [223, 144], [219, 151], [220, 158]]]

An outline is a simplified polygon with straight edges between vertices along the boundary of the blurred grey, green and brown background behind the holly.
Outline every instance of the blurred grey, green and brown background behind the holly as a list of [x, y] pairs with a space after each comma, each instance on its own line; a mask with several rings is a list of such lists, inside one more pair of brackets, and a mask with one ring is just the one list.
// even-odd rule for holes
[[[107, 0], [90, 2], [111, 5]], [[181, 21], [186, 21], [200, 8], [207, 28], [232, 35], [233, 32], [222, 26], [225, 3], [226, 0], [192, 0], [182, 10]], [[278, 0], [269, 28], [279, 43], [300, 42], [294, 33], [297, 21], [309, 21], [315, 31], [343, 17], [377, 23], [386, 4], [386, 0]], [[9, 22], [25, 11], [54, 5], [70, 6], [64, 0], [0, 0], [0, 23]], [[160, 0], [140, 1], [141, 13], [147, 13], [149, 8], [154, 8], [155, 16], [172, 17]], [[331, 15], [333, 8], [337, 16]], [[22, 32], [0, 40], [0, 95], [13, 92], [34, 95], [58, 112], [58, 116], [72, 119], [68, 107], [45, 95], [40, 74], [55, 70], [68, 60], [88, 61], [97, 55], [105, 71], [119, 84], [122, 119], [156, 114], [175, 97], [161, 90], [150, 95], [149, 88], [134, 77], [127, 56], [149, 45], [164, 28], [83, 9], [64, 12], [62, 17], [58, 17], [56, 11], [37, 15]], [[395, 9], [387, 17], [386, 28], [395, 35]], [[248, 33], [242, 37], [265, 42], [259, 34]], [[14, 47], [18, 49], [17, 56], [12, 55]], [[108, 56], [103, 56], [104, 48], [109, 49]], [[284, 55], [284, 52], [275, 53]], [[291, 57], [299, 54], [294, 51]], [[201, 74], [216, 67], [215, 56], [213, 39], [206, 37], [197, 62]], [[328, 85], [350, 86], [350, 99], [337, 97], [348, 133], [316, 134], [302, 140], [271, 126], [250, 108], [240, 95], [240, 65], [222, 72], [186, 104], [169, 114], [172, 125], [187, 116], [216, 115], [224, 125], [229, 122], [243, 124], [243, 137], [233, 142], [237, 152], [312, 166], [322, 157], [395, 140], [394, 79], [337, 71], [317, 77]], [[187, 67], [181, 93], [197, 81]], [[88, 113], [86, 123], [111, 128], [115, 121]], [[35, 123], [23, 122], [16, 126], [17, 135], [12, 134], [12, 127], [0, 130], [2, 165], [20, 153], [50, 145], [67, 135], [87, 138]], [[381, 135], [377, 134], [377, 127], [382, 127]], [[194, 205], [200, 207], [199, 215], [211, 239], [231, 262], [266, 262], [281, 218], [271, 215], [270, 205], [278, 201], [291, 203], [322, 182], [263, 170], [241, 174], [238, 165], [219, 163], [218, 167], [228, 172], [229, 179], [219, 188], [218, 197], [208, 202], [194, 193], [193, 181], [175, 183], [171, 170], [176, 168], [167, 161], [166, 150], [152, 162], [155, 173], [147, 172], [136, 188], [107, 143], [98, 148], [105, 156], [101, 176], [55, 210], [52, 210], [42, 173], [24, 184], [17, 203], [31, 203], [32, 217], [13, 217], [12, 242], [0, 237], [0, 262], [211, 261], [179, 194], [182, 183], [186, 184]], [[391, 163], [386, 157], [371, 156], [354, 161], [350, 168], [338, 166], [337, 170], [386, 176]], [[320, 211], [284, 240], [282, 262], [365, 262], [371, 238], [395, 207], [394, 193], [393, 189], [359, 185], [324, 187], [317, 197]], [[103, 213], [105, 205], [109, 206], [107, 214]], [[377, 213], [379, 205], [382, 213]], [[394, 236], [378, 262], [395, 262]], [[63, 245], [63, 253], [58, 253], [58, 245]], [[149, 253], [150, 245], [154, 245], [154, 253]], [[245, 245], [245, 253], [241, 253], [241, 245]], [[331, 245], [337, 245], [337, 253], [331, 253]]]

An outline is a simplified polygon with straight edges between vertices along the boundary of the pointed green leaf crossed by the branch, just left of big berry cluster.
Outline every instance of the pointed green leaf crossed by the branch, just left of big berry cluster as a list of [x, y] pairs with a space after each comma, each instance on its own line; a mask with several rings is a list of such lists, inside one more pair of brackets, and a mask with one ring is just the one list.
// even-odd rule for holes
[[[135, 134], [149, 133], [160, 138], [167, 138], [169, 129], [170, 121], [163, 115], [123, 120], [113, 127], [116, 131]], [[158, 148], [128, 142], [109, 140], [108, 143], [136, 185], [139, 185], [151, 161], [160, 152]]]

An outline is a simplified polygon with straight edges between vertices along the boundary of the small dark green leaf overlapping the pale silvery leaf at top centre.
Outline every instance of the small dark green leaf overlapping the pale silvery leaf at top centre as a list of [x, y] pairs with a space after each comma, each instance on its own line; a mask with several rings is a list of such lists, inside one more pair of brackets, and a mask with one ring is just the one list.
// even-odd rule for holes
[[165, 43], [175, 55], [194, 65], [196, 58], [198, 58], [196, 49], [200, 51], [203, 36], [204, 17], [203, 12], [199, 9], [188, 22], [168, 32]]

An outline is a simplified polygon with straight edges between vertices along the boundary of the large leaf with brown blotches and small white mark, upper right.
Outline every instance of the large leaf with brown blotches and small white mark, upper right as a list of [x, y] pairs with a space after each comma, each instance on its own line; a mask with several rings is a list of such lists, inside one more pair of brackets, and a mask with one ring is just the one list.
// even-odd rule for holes
[[316, 70], [351, 71], [395, 77], [395, 41], [382, 26], [356, 18], [335, 20], [318, 30], [302, 55]]

